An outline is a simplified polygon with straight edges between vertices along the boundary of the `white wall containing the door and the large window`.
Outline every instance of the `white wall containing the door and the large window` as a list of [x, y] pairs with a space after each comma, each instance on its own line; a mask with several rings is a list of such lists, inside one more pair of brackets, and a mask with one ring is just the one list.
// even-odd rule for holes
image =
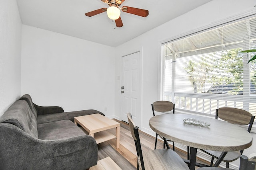
[[[139, 37], [116, 47], [115, 77], [122, 79], [122, 55], [129, 53], [132, 49], [143, 48], [142, 57], [142, 123], [140, 129], [151, 135], [155, 133], [149, 127], [149, 119], [152, 117], [152, 102], [160, 100], [159, 93], [159, 61], [160, 43], [167, 42], [188, 35], [195, 31], [202, 30], [220, 23], [225, 23], [227, 18], [235, 18], [244, 11], [254, 10], [256, 13], [255, 0], [212, 0], [211, 2], [196, 8], [174, 20], [152, 29]], [[128, 48], [129, 47], [129, 48]], [[122, 81], [115, 78], [115, 111], [116, 117], [120, 117]], [[256, 152], [256, 144], [246, 152]], [[238, 162], [239, 163], [239, 162]]]

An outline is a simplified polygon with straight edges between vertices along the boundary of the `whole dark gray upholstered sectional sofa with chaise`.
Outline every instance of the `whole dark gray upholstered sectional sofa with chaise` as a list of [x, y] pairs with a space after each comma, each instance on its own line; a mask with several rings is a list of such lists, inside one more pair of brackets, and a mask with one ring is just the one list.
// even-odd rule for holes
[[103, 113], [64, 112], [42, 107], [26, 94], [0, 117], [0, 169], [85, 170], [97, 164], [93, 137], [74, 124], [74, 117]]

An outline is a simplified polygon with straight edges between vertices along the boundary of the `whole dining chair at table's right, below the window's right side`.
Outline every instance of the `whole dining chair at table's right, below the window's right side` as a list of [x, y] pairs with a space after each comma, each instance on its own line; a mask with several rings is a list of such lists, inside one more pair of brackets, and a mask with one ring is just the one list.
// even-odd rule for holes
[[[251, 113], [243, 109], [238, 109], [233, 107], [221, 107], [219, 109], [216, 109], [215, 119], [218, 119], [218, 118], [236, 125], [248, 125], [247, 131], [250, 132], [252, 129], [252, 124], [254, 122], [255, 116], [253, 116]], [[214, 158], [218, 159], [218, 157], [222, 153], [220, 151], [212, 151], [212, 150], [202, 150], [202, 151], [212, 156], [210, 166], [213, 165]], [[226, 162], [226, 168], [229, 168], [229, 162], [232, 162], [240, 158], [243, 151], [244, 150], [228, 152], [222, 160]]]

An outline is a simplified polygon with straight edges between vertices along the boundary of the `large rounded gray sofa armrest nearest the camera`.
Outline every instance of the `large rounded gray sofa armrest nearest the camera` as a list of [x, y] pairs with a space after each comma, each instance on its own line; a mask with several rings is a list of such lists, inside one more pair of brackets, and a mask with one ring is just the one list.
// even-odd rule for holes
[[0, 123], [1, 169], [77, 169], [97, 164], [98, 148], [89, 135], [40, 140], [20, 128]]

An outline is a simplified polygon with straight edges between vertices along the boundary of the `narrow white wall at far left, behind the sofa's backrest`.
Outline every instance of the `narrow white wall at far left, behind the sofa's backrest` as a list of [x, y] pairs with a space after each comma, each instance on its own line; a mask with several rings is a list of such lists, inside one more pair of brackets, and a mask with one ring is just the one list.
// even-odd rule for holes
[[0, 115], [20, 97], [21, 25], [16, 0], [0, 0]]

